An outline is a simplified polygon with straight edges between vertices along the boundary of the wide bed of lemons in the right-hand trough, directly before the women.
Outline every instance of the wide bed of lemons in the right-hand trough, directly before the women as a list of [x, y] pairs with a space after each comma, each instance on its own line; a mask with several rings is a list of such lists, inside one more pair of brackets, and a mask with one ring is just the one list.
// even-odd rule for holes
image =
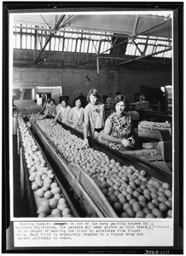
[[78, 164], [95, 181], [119, 217], [171, 218], [170, 184], [135, 166], [122, 166], [94, 148], [82, 149], [82, 139], [59, 124], [52, 127], [50, 119], [35, 121], [67, 163]]

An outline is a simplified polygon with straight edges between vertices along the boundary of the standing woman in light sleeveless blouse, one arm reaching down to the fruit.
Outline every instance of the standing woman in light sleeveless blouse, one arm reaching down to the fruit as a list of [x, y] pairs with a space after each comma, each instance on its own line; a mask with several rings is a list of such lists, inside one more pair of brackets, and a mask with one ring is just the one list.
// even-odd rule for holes
[[105, 110], [104, 105], [99, 102], [100, 95], [96, 89], [91, 89], [87, 95], [89, 104], [84, 108], [84, 142], [83, 148], [89, 145], [88, 132], [90, 137], [98, 138], [104, 129]]

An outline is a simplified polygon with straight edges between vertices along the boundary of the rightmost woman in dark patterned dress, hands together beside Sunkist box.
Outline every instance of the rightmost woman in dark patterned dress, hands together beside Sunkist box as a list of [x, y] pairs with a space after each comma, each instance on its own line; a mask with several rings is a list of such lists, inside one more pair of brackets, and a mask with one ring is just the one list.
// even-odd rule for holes
[[128, 110], [129, 103], [125, 96], [115, 97], [115, 111], [108, 116], [105, 122], [102, 137], [109, 147], [118, 151], [131, 149], [135, 144], [131, 136], [131, 116]]

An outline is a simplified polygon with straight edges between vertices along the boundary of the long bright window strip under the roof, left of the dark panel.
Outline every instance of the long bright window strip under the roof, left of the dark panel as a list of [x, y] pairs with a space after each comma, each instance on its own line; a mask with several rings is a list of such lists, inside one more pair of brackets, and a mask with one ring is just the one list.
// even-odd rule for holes
[[[15, 49], [41, 50], [49, 34], [49, 28], [44, 30], [36, 26], [15, 25], [14, 47]], [[109, 54], [111, 47], [111, 36], [108, 33], [65, 29], [55, 33], [45, 50], [94, 54], [106, 51], [105, 54]]]

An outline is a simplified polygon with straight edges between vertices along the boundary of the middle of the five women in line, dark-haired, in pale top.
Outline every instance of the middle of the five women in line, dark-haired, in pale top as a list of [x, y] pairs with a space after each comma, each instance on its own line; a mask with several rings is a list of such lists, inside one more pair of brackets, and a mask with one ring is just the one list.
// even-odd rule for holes
[[80, 126], [84, 123], [84, 108], [81, 107], [82, 102], [80, 97], [76, 97], [74, 102], [75, 107], [70, 110], [68, 122], [72, 123], [74, 126]]

